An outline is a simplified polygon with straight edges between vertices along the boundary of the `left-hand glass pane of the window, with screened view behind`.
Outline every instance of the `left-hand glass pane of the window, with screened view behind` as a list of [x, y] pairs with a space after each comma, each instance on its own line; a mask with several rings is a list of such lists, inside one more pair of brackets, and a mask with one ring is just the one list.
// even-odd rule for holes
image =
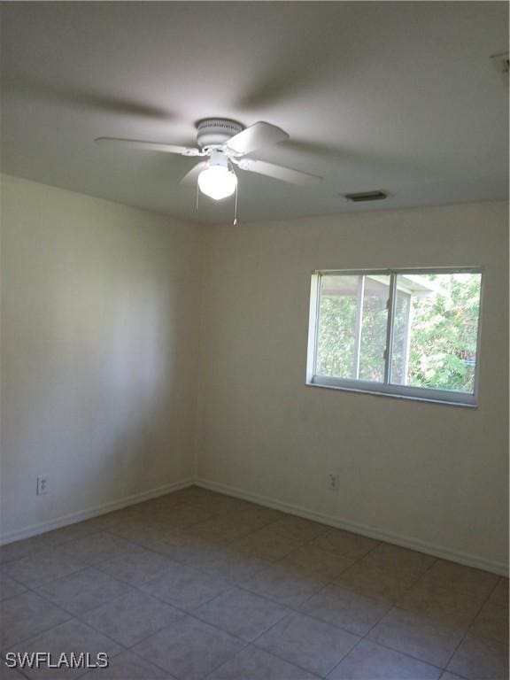
[[321, 277], [318, 375], [383, 382], [390, 276]]

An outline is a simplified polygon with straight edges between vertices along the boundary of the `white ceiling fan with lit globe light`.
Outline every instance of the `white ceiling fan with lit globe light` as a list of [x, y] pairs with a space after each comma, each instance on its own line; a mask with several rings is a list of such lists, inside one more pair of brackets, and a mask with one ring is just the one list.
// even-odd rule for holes
[[197, 187], [206, 196], [220, 200], [232, 196], [237, 189], [235, 167], [249, 173], [264, 174], [283, 182], [299, 185], [313, 185], [321, 182], [315, 174], [303, 173], [289, 167], [277, 166], [264, 160], [244, 158], [253, 151], [259, 151], [272, 144], [289, 139], [281, 128], [259, 122], [243, 128], [235, 120], [208, 118], [197, 124], [197, 147], [179, 146], [135, 139], [98, 137], [98, 144], [115, 144], [143, 151], [163, 151], [180, 156], [203, 157], [203, 161], [192, 167], [180, 183], [197, 182]]

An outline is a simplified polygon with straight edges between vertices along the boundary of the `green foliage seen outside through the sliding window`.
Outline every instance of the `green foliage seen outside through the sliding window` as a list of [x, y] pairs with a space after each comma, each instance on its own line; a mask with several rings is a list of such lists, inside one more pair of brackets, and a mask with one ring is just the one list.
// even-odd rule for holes
[[[346, 279], [347, 277], [345, 277]], [[352, 277], [350, 277], [352, 278]], [[440, 294], [410, 297], [397, 286], [391, 382], [472, 392], [480, 309], [480, 274], [424, 274]], [[367, 277], [366, 281], [369, 281]], [[321, 296], [317, 373], [383, 382], [388, 286], [366, 283], [356, 375], [354, 293]], [[412, 305], [408, 324], [409, 305]], [[406, 333], [409, 333], [406, 375]]]

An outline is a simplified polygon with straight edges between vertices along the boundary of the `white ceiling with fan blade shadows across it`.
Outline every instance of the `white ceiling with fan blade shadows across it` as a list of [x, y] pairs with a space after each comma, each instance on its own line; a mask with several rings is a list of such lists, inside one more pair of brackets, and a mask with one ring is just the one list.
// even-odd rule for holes
[[[177, 181], [196, 162], [99, 147], [189, 144], [197, 120], [290, 134], [258, 158], [320, 174], [243, 173], [241, 220], [505, 198], [503, 2], [12, 2], [2, 6], [2, 170], [189, 220], [233, 201]], [[385, 189], [351, 205], [340, 194]]]

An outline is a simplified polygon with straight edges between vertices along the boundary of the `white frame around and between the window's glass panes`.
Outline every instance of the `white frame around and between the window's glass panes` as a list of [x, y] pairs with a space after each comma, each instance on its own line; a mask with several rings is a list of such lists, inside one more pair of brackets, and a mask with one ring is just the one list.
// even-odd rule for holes
[[[384, 275], [390, 276], [390, 291], [388, 299], [388, 324], [386, 329], [386, 350], [384, 359], [383, 383], [372, 383], [364, 380], [352, 380], [348, 378], [333, 377], [330, 375], [318, 375], [317, 345], [319, 336], [319, 311], [321, 296], [321, 277], [323, 275]], [[393, 337], [393, 309], [397, 293], [398, 274], [480, 274], [480, 306], [478, 312], [478, 328], [476, 336], [476, 366], [475, 384], [473, 392], [460, 392], [457, 390], [434, 390], [426, 387], [411, 387], [410, 385], [398, 385], [390, 383], [390, 367]], [[480, 341], [482, 330], [482, 305], [483, 305], [483, 267], [416, 267], [390, 269], [317, 269], [312, 274], [310, 290], [310, 315], [308, 325], [308, 352], [306, 359], [306, 385], [312, 387], [325, 387], [334, 390], [347, 390], [365, 394], [383, 395], [386, 397], [417, 399], [452, 406], [478, 405], [478, 387], [480, 375]]]

